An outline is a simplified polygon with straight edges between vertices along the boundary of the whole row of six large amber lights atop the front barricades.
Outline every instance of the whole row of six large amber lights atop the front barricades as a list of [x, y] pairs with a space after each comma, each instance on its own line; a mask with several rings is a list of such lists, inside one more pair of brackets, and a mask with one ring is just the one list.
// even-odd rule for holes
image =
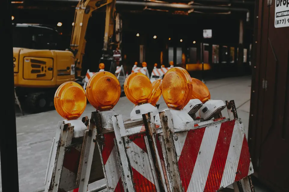
[[[203, 103], [211, 97], [208, 87], [200, 80], [191, 78], [181, 67], [169, 69], [163, 80], [150, 79], [139, 72], [130, 74], [124, 82], [126, 97], [135, 105], [151, 103], [156, 106], [163, 94], [169, 108], [181, 110], [190, 99], [200, 99]], [[120, 82], [110, 72], [94, 74], [87, 83], [86, 92], [76, 82], [66, 82], [59, 86], [54, 96], [56, 111], [64, 119], [77, 119], [84, 112], [87, 100], [96, 110], [112, 109], [120, 99]]]

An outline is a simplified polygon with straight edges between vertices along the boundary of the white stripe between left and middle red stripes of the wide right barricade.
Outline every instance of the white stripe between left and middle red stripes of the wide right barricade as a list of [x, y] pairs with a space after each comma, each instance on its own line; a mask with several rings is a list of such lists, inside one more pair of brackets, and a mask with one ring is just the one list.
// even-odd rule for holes
[[206, 127], [187, 191], [204, 191], [220, 128], [221, 123], [218, 125]]

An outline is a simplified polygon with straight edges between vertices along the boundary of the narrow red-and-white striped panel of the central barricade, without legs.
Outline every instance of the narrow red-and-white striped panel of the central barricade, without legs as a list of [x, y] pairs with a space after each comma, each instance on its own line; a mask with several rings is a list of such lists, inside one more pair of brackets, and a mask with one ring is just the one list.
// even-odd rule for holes
[[130, 142], [126, 143], [126, 154], [132, 169], [132, 181], [135, 191], [156, 191], [153, 170], [151, 169], [148, 149], [145, 144], [145, 133], [125, 137]]

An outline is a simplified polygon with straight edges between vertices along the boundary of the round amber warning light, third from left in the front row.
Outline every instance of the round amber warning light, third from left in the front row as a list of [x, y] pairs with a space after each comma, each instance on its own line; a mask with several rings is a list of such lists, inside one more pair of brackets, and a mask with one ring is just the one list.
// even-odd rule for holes
[[124, 81], [124, 92], [126, 97], [135, 105], [148, 103], [152, 94], [152, 89], [150, 79], [139, 72], [130, 74]]

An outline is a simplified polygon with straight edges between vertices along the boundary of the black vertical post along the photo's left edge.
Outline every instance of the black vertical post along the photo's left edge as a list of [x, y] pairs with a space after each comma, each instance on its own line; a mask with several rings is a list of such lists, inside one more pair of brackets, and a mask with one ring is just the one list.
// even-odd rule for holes
[[1, 11], [1, 37], [5, 38], [5, 49], [2, 49], [2, 58], [5, 65], [3, 71], [5, 83], [2, 83], [2, 90], [5, 91], [2, 97], [2, 104], [8, 106], [8, 110], [1, 110], [1, 134], [0, 134], [0, 162], [2, 191], [19, 192], [18, 183], [18, 161], [17, 161], [17, 137], [15, 118], [15, 96], [14, 96], [14, 70], [13, 70], [13, 47], [12, 47], [12, 21], [11, 21], [11, 1], [2, 0]]

